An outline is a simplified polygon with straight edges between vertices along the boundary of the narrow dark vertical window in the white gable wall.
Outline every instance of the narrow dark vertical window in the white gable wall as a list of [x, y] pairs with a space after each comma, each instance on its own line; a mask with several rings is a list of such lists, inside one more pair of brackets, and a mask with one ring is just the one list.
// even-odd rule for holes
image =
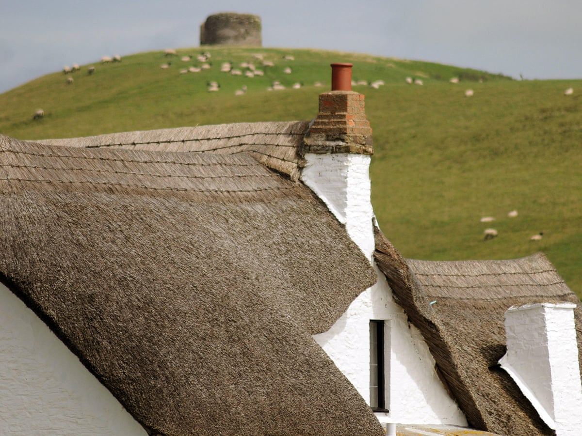
[[388, 412], [385, 398], [384, 321], [370, 321], [370, 407]]

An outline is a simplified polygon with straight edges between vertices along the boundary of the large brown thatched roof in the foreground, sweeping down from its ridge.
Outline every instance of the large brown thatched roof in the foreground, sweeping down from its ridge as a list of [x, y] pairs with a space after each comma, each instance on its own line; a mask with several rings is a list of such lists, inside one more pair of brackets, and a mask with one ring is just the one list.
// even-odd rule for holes
[[162, 434], [382, 434], [311, 337], [375, 273], [253, 158], [0, 135], [0, 279]]

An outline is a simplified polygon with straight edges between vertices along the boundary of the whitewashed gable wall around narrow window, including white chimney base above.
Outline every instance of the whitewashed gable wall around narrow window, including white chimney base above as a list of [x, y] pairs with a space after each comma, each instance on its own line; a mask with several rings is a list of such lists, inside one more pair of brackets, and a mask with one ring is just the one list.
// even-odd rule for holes
[[[301, 180], [328, 205], [371, 262], [374, 253], [370, 156], [308, 154]], [[467, 426], [467, 420], [435, 372], [420, 332], [392, 299], [384, 275], [356, 298], [329, 331], [315, 335], [363, 398], [370, 400], [370, 320], [386, 324], [386, 408], [381, 421]], [[386, 356], [388, 357], [388, 356]], [[388, 361], [389, 360], [389, 361]]]

